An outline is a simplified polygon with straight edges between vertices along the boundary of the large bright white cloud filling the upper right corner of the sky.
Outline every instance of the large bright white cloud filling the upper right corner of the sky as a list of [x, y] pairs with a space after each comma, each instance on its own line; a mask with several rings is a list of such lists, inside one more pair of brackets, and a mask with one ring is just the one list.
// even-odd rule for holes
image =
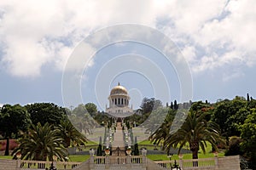
[[230, 1], [224, 8], [224, 18], [209, 21], [201, 27], [194, 40], [206, 49], [207, 58], [212, 63], [204, 62], [206, 59], [203, 57], [198, 59], [200, 67], [255, 65], [255, 8], [254, 1]]

